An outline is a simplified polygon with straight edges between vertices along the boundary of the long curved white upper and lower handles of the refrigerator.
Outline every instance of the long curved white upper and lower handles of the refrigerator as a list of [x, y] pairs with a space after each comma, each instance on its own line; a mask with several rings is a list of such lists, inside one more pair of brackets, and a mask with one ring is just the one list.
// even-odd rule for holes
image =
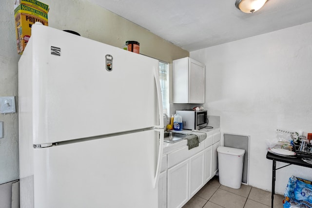
[[156, 92], [157, 92], [157, 100], [158, 100], [158, 114], [159, 114], [159, 126], [155, 126], [156, 128], [155, 131], [160, 132], [157, 166], [156, 166], [156, 173], [155, 173], [155, 178], [154, 178], [154, 189], [157, 187], [158, 180], [159, 180], [162, 152], [163, 152], [163, 145], [164, 145], [164, 120], [163, 120], [163, 114], [162, 114], [162, 98], [161, 98], [161, 88], [160, 88], [160, 83], [159, 83], [158, 70], [159, 70], [158, 68], [154, 67], [154, 78], [155, 78], [155, 84], [156, 84]]

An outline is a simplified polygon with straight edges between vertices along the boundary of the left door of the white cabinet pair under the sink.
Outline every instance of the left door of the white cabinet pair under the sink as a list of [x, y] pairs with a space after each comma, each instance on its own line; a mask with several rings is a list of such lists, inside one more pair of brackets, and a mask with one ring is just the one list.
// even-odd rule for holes
[[181, 208], [189, 200], [189, 161], [167, 170], [167, 208]]

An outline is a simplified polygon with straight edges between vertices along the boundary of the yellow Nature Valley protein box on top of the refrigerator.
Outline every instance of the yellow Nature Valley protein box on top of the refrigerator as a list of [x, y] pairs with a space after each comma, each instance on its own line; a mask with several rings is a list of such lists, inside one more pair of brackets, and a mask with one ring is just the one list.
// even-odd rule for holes
[[21, 0], [21, 2], [22, 1], [37, 3], [37, 6], [33, 7], [30, 4], [24, 5], [20, 3], [14, 10], [18, 54], [23, 53], [31, 36], [31, 26], [35, 22], [38, 21], [48, 26], [48, 13], [45, 12], [49, 10], [48, 5], [41, 2], [41, 4], [39, 4], [37, 0]]

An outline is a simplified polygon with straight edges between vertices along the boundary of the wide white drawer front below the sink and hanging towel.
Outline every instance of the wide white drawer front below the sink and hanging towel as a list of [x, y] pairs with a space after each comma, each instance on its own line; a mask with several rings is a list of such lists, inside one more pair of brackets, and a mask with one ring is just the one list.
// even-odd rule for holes
[[168, 168], [173, 167], [174, 165], [190, 158], [195, 155], [197, 152], [200, 152], [205, 149], [205, 142], [199, 143], [198, 147], [195, 147], [189, 150], [188, 146], [180, 148], [170, 154], [168, 154]]

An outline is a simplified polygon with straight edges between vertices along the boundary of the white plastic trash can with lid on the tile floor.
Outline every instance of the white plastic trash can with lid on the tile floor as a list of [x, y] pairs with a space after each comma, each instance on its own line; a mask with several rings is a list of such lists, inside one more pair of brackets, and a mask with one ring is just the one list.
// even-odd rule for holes
[[218, 147], [219, 183], [233, 189], [242, 184], [245, 150]]

